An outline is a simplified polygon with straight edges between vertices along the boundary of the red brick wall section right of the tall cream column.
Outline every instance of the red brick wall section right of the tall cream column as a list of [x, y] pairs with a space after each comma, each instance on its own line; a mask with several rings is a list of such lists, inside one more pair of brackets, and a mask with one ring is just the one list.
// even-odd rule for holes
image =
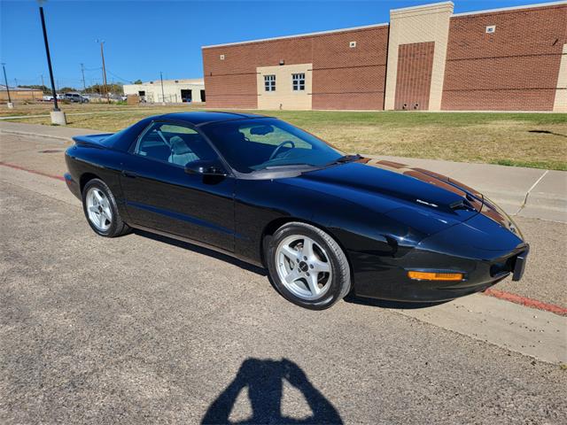
[[551, 111], [565, 42], [564, 4], [451, 18], [441, 109]]

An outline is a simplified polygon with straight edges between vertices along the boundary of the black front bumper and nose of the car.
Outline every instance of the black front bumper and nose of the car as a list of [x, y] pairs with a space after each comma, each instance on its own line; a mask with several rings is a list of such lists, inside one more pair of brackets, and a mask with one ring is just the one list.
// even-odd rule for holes
[[[512, 275], [524, 274], [529, 245], [521, 236], [482, 214], [426, 237], [394, 258], [349, 251], [354, 292], [396, 301], [445, 301], [485, 290]], [[418, 281], [408, 271], [462, 273], [459, 282]]]

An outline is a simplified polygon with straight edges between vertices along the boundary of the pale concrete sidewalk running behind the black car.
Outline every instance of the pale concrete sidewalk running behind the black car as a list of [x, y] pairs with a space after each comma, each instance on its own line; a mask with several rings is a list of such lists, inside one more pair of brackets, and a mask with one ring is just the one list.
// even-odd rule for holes
[[[69, 140], [74, 135], [100, 133], [87, 128], [50, 127], [19, 122], [0, 122], [0, 132], [62, 140]], [[388, 156], [374, 158], [388, 159], [445, 174], [478, 189], [511, 215], [567, 222], [567, 172], [564, 171], [437, 159]]]

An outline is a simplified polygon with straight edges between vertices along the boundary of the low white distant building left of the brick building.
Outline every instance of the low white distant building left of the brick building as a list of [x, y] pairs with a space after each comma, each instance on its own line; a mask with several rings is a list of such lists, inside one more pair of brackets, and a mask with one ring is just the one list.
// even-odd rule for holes
[[205, 102], [205, 83], [202, 78], [164, 80], [162, 94], [161, 81], [154, 80], [142, 84], [125, 84], [124, 94], [126, 96], [139, 96], [141, 101], [148, 103]]

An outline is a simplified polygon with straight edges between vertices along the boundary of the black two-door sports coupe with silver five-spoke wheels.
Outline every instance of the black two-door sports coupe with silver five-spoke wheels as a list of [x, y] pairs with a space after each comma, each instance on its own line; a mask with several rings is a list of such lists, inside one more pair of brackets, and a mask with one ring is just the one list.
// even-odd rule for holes
[[98, 235], [140, 228], [223, 251], [303, 307], [350, 291], [441, 301], [524, 273], [529, 245], [478, 191], [282, 120], [169, 113], [74, 142], [66, 183]]

